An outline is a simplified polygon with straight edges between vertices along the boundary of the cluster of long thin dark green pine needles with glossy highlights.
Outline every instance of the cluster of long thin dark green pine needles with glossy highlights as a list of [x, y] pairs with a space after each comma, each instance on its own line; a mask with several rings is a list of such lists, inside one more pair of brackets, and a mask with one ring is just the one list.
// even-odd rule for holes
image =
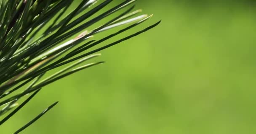
[[[79, 66], [101, 55], [95, 54], [96, 52], [138, 36], [160, 23], [159, 21], [110, 44], [89, 50], [152, 17], [141, 14], [141, 9], [133, 11], [134, 5], [131, 4], [136, 0], [124, 0], [109, 9], [106, 6], [113, 0], [101, 1], [82, 0], [67, 13], [74, 0], [0, 0], [0, 116], [8, 113], [0, 121], [0, 126], [46, 85], [104, 63], [93, 62]], [[126, 10], [114, 16], [114, 13], [126, 7]], [[105, 12], [96, 15], [100, 10]], [[101, 20], [104, 18], [112, 19], [103, 23]], [[101, 22], [101, 25], [97, 26], [97, 22]], [[98, 41], [92, 40], [99, 33], [123, 25], [128, 26]], [[87, 31], [88, 27], [93, 27], [93, 30]], [[76, 37], [72, 38], [74, 36]], [[82, 52], [85, 53], [81, 54]], [[48, 71], [68, 63], [72, 64], [41, 80]], [[21, 90], [24, 86], [27, 88]], [[19, 105], [18, 101], [30, 93], [32, 95]], [[26, 129], [56, 104], [45, 109], [14, 134]]]

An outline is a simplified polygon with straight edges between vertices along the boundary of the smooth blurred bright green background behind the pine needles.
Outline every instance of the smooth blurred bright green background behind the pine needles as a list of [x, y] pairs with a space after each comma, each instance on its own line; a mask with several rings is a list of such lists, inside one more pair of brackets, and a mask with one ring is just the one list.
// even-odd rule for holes
[[59, 101], [22, 134], [256, 134], [255, 7], [253, 0], [138, 0], [136, 9], [154, 17], [118, 37], [159, 26], [102, 51], [96, 60], [106, 64], [43, 88], [0, 133]]

